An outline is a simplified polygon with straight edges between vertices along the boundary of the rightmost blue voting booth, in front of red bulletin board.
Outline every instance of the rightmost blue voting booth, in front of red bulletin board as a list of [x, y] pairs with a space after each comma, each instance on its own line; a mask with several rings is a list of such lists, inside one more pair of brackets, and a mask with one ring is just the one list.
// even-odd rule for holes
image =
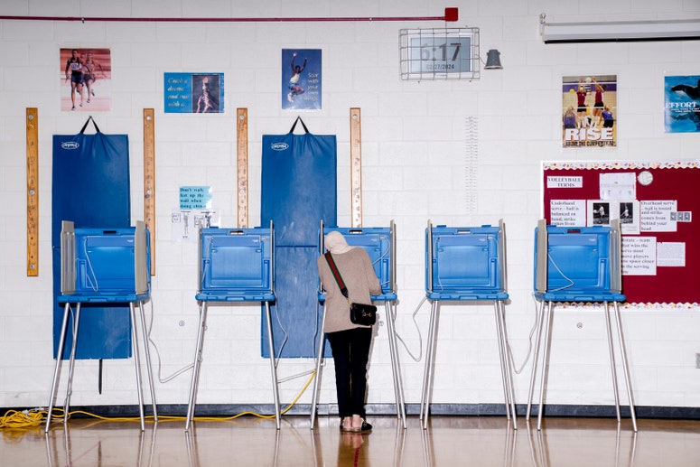
[[[593, 227], [560, 227], [546, 225], [546, 220], [540, 220], [537, 223], [537, 229], [535, 229], [534, 273], [534, 294], [539, 303], [539, 316], [535, 356], [532, 360], [532, 373], [527, 397], [527, 419], [532, 411], [532, 397], [539, 363], [540, 391], [537, 429], [541, 429], [555, 304], [599, 303], [603, 307], [607, 331], [615, 411], [618, 422], [621, 420], [617, 369], [611, 332], [610, 304], [613, 304], [623, 374], [630, 400], [630, 417], [636, 432], [637, 418], [632, 399], [630, 369], [620, 316], [620, 303], [625, 301], [625, 295], [622, 294], [621, 289], [621, 230], [619, 220], [611, 220], [610, 226]], [[542, 352], [542, 361], [538, 362], [540, 351]]]

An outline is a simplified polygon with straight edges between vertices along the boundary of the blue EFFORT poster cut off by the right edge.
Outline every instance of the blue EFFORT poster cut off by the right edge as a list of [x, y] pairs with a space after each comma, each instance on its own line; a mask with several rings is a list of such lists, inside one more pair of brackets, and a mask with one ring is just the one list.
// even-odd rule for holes
[[664, 83], [667, 133], [700, 133], [700, 76], [667, 76]]

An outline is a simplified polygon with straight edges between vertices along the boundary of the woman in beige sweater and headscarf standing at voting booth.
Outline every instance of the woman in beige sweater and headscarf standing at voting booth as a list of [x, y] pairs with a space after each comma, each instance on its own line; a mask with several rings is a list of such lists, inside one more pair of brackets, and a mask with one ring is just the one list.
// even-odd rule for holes
[[348, 298], [345, 298], [328, 261], [321, 255], [318, 258], [318, 270], [326, 291], [323, 332], [326, 333], [333, 352], [341, 431], [369, 433], [372, 425], [366, 420], [365, 397], [372, 326], [350, 321], [349, 301], [371, 304], [370, 295], [381, 294], [381, 285], [364, 248], [350, 247], [337, 231], [326, 235], [325, 247], [331, 252], [348, 288]]

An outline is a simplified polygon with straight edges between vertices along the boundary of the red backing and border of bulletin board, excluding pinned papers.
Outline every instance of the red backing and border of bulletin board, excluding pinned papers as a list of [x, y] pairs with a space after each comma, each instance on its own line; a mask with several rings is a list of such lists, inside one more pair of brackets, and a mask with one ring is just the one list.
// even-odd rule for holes
[[[640, 231], [630, 237], [656, 237], [656, 245], [685, 247], [684, 266], [658, 266], [651, 276], [622, 276], [622, 293], [630, 304], [698, 304], [700, 303], [700, 161], [685, 162], [545, 162], [542, 164], [543, 212], [551, 219], [551, 201], [600, 200], [602, 173], [634, 173], [638, 201], [677, 201], [683, 221], [676, 231]], [[639, 173], [648, 171], [649, 184], [639, 182]], [[575, 177], [573, 187], [551, 188], [549, 177]], [[643, 178], [642, 178], [643, 180]], [[693, 212], [695, 210], [695, 212]], [[688, 214], [689, 212], [689, 214]], [[674, 216], [674, 214], [671, 214]], [[689, 217], [688, 217], [689, 216]], [[629, 235], [629, 234], [628, 234]], [[622, 241], [623, 263], [625, 237]]]

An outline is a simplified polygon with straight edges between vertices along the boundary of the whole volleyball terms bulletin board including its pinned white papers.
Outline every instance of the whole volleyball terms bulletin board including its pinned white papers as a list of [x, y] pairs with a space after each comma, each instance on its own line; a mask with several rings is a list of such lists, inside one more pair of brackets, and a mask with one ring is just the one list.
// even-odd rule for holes
[[700, 303], [700, 161], [545, 162], [542, 177], [548, 224], [621, 219], [628, 303]]

